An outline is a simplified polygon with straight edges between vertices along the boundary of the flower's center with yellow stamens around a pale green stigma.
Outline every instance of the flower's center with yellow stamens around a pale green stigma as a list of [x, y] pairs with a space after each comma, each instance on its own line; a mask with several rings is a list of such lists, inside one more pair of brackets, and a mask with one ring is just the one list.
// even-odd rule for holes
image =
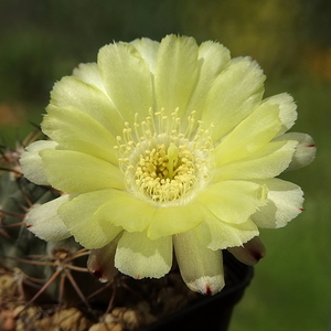
[[162, 109], [134, 130], [125, 124], [122, 137], [117, 137], [119, 164], [129, 192], [157, 206], [182, 205], [206, 185], [210, 177], [212, 141], [209, 130], [194, 119], [186, 119], [185, 131], [178, 109], [169, 116]]

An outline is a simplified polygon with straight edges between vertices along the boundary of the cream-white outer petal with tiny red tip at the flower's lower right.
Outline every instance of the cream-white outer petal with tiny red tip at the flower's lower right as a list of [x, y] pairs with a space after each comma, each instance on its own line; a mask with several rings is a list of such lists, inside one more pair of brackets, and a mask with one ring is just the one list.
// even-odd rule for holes
[[282, 227], [302, 211], [303, 192], [290, 182], [280, 179], [260, 180], [268, 188], [268, 203], [253, 216], [258, 227]]

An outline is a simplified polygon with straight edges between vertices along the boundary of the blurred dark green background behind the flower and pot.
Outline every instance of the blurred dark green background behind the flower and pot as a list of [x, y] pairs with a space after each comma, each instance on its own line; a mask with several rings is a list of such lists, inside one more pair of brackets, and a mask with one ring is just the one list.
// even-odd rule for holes
[[305, 190], [305, 212], [285, 228], [261, 232], [267, 256], [231, 331], [331, 330], [330, 25], [330, 0], [2, 0], [2, 139], [13, 146], [23, 138], [29, 121], [40, 122], [54, 82], [113, 41], [178, 33], [253, 56], [268, 76], [266, 96], [295, 97], [293, 130], [313, 136], [318, 156], [282, 177]]

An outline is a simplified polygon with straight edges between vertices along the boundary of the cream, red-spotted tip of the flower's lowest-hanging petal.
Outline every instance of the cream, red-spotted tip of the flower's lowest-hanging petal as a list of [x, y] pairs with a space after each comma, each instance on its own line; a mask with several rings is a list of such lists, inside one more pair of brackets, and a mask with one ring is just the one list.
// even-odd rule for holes
[[204, 276], [199, 279], [194, 279], [193, 281], [186, 282], [186, 286], [195, 292], [213, 296], [223, 289], [223, 287], [225, 286], [225, 281], [223, 275], [213, 277]]

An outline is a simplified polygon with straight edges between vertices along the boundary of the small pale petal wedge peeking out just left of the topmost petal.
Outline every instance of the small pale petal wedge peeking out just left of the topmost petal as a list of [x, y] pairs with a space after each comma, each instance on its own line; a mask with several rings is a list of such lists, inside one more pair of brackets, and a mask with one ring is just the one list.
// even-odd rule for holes
[[160, 43], [149, 38], [136, 39], [130, 42], [139, 52], [140, 56], [148, 63], [149, 70], [152, 74], [156, 72], [157, 54]]

